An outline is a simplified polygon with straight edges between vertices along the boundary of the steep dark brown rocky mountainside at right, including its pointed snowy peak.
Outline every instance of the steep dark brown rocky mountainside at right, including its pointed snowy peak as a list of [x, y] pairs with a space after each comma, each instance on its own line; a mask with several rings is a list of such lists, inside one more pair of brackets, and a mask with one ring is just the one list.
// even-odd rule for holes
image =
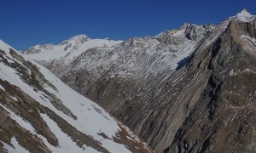
[[188, 67], [210, 73], [207, 86], [166, 152], [256, 151], [255, 17], [241, 14], [195, 52]]

